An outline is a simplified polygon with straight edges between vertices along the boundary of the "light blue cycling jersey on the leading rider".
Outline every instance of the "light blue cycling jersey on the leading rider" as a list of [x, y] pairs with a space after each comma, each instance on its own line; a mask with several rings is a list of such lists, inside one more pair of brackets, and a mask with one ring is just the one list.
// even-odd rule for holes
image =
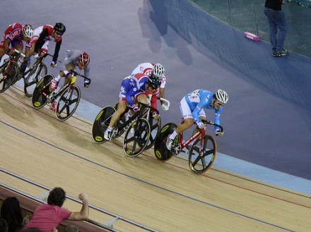
[[[187, 104], [189, 105], [192, 116], [195, 121], [200, 121], [199, 118], [199, 112], [201, 109], [214, 109], [215, 115], [214, 115], [214, 123], [220, 124], [220, 117], [221, 112], [223, 111], [223, 106], [221, 106], [219, 109], [215, 109], [213, 106], [211, 106], [211, 101], [213, 100], [213, 93], [206, 91], [206, 90], [194, 90], [193, 92], [189, 92], [186, 96], [184, 96], [186, 99]], [[215, 127], [216, 129], [218, 127]]]

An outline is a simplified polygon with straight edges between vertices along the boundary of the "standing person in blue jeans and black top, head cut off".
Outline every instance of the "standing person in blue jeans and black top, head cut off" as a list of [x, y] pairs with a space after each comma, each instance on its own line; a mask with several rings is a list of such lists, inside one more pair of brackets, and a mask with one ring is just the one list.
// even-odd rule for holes
[[284, 49], [287, 25], [282, 4], [284, 4], [284, 0], [266, 0], [264, 4], [264, 14], [268, 18], [273, 56], [288, 55], [288, 51]]

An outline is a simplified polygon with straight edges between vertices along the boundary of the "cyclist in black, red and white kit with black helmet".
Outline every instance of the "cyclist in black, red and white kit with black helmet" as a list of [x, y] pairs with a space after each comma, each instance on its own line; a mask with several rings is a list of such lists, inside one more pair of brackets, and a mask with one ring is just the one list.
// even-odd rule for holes
[[63, 23], [56, 23], [54, 27], [52, 25], [43, 25], [36, 28], [30, 42], [26, 44], [25, 55], [27, 56], [27, 59], [25, 59], [25, 62], [29, 63], [30, 56], [33, 56], [33, 54], [35, 54], [35, 58], [45, 56], [48, 51], [49, 41], [53, 41], [56, 42], [56, 45], [51, 66], [56, 66], [59, 49], [61, 48], [62, 35], [65, 31], [66, 27]]

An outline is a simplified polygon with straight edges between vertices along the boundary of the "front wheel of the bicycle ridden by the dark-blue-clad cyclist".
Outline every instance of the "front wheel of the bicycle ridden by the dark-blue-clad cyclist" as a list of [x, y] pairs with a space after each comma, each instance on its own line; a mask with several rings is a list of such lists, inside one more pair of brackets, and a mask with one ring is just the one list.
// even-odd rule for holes
[[123, 149], [129, 157], [136, 157], [148, 144], [151, 128], [146, 118], [135, 120], [124, 135]]

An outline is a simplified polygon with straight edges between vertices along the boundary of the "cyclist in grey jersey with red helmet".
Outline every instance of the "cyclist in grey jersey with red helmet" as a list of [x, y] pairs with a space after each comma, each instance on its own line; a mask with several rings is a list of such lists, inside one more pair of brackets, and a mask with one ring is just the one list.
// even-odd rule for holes
[[[69, 83], [71, 80], [71, 72], [75, 70], [76, 67], [80, 70], [84, 70], [84, 75], [86, 77], [89, 77], [90, 75], [90, 56], [84, 51], [79, 51], [79, 50], [67, 50], [66, 51], [66, 58], [64, 59], [62, 66], [63, 70], [59, 72], [59, 75], [57, 75], [56, 78], [52, 80], [51, 83], [51, 89], [52, 91], [55, 91], [57, 89], [57, 85], [59, 83], [59, 80], [63, 77], [66, 76], [64, 85]], [[63, 85], [63, 87], [64, 87]], [[84, 80], [84, 87], [89, 87], [90, 82], [89, 80], [85, 79]], [[56, 111], [56, 106], [57, 106], [58, 98], [54, 99], [54, 102], [52, 104], [52, 110]]]

